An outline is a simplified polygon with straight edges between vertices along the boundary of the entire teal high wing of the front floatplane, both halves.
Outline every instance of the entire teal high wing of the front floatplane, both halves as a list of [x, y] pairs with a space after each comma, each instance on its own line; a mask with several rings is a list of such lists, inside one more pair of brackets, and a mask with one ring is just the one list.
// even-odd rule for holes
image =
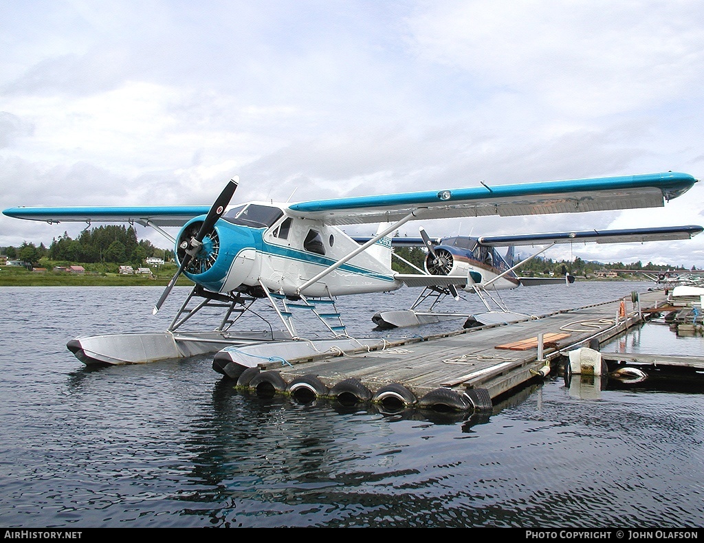
[[[667, 172], [495, 187], [482, 183], [482, 187], [303, 201], [290, 204], [287, 212], [301, 218], [346, 225], [411, 218], [521, 216], [661, 207], [665, 201], [684, 194], [696, 182], [689, 174]], [[209, 210], [210, 206], [15, 207], [3, 213], [50, 223], [181, 226]]]

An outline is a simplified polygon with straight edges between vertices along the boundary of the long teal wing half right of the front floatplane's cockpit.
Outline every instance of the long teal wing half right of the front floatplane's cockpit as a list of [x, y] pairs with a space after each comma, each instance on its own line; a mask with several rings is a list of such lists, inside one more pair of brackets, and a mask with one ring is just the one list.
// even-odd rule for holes
[[418, 218], [521, 216], [662, 207], [697, 180], [686, 173], [651, 173], [563, 181], [382, 194], [291, 204], [294, 216], [345, 225]]

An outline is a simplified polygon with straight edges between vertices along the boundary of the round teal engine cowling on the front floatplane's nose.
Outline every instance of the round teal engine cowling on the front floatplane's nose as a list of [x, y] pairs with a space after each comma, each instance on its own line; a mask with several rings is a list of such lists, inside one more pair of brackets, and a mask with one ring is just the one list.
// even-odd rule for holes
[[[204, 217], [191, 219], [179, 232], [176, 243], [179, 263], [203, 220]], [[218, 220], [213, 230], [203, 237], [203, 243], [184, 268], [184, 275], [211, 292], [230, 292], [242, 285], [251, 286], [256, 282], [256, 277], [251, 277], [256, 245], [250, 228]]]

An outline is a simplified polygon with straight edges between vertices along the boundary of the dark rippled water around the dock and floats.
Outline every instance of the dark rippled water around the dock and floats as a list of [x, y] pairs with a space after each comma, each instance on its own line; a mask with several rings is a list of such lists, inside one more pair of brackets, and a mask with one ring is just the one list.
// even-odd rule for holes
[[[504, 299], [543, 314], [648, 286], [578, 282]], [[428, 420], [252, 397], [222, 380], [209, 356], [89, 369], [65, 349], [77, 335], [163, 330], [177, 301], [151, 316], [159, 294], [0, 289], [0, 526], [704, 525], [696, 387], [606, 388], [584, 399], [551, 375], [484, 420]], [[348, 297], [341, 306], [358, 335], [399, 337], [418, 330], [370, 332], [370, 318], [408, 306], [410, 296]], [[664, 331], [660, 349], [701, 348], [700, 339]], [[646, 335], [631, 332], [622, 346], [645, 344]]]

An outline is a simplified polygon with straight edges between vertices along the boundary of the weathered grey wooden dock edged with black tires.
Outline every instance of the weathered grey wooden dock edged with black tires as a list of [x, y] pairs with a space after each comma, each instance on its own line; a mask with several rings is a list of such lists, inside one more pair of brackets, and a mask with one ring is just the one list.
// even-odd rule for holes
[[[372, 401], [390, 394], [420, 407], [436, 403], [489, 410], [497, 397], [545, 377], [551, 367], [554, 371], [568, 351], [603, 344], [666, 305], [664, 292], [648, 291], [639, 293], [637, 301], [618, 299], [517, 323], [398, 340], [379, 349], [289, 359], [286, 365], [267, 362], [258, 370], [277, 373], [287, 383], [314, 377], [331, 391], [353, 381], [372, 394]], [[704, 367], [704, 360], [698, 363]]]

